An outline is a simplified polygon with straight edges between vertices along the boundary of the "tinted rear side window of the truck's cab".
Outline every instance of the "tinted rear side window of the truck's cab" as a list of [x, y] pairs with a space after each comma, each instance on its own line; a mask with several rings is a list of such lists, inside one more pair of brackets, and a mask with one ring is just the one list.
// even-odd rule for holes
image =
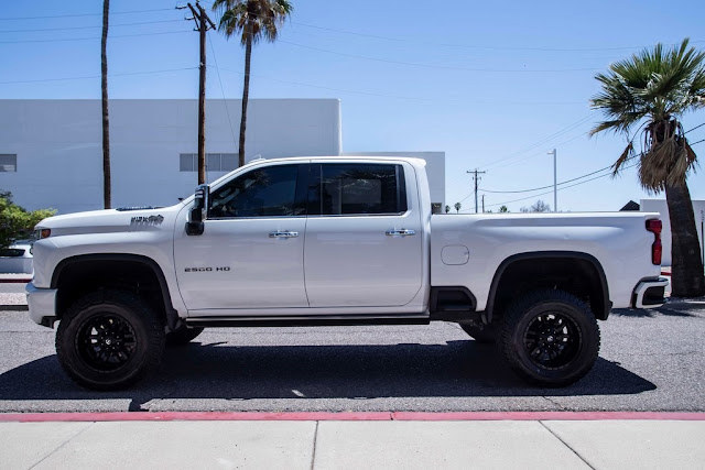
[[[406, 211], [401, 165], [324, 164], [317, 196], [310, 214], [401, 214]], [[310, 194], [310, 197], [312, 195]]]

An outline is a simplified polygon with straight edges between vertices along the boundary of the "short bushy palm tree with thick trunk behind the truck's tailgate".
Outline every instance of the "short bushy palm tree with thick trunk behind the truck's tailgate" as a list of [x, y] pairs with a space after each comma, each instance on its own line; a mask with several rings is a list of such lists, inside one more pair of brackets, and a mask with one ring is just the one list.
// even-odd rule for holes
[[[705, 107], [705, 53], [680, 46], [657, 44], [630, 58], [610, 65], [609, 73], [597, 74], [601, 91], [590, 100], [604, 112], [590, 135], [614, 131], [627, 136], [628, 145], [615, 162], [616, 175], [625, 163], [638, 157], [641, 186], [658, 194], [665, 192], [671, 220], [672, 294], [680, 297], [705, 294], [703, 262], [686, 178], [696, 155], [688, 145], [681, 116]], [[631, 131], [636, 129], [632, 134]], [[641, 149], [634, 140], [641, 136]]]

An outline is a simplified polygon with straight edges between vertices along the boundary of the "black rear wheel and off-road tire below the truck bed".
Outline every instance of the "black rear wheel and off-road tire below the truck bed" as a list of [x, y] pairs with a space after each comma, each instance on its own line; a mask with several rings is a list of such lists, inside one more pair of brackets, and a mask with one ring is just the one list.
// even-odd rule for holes
[[563, 291], [536, 291], [519, 298], [505, 313], [500, 332], [498, 347], [510, 368], [541, 386], [578, 381], [599, 353], [595, 315]]

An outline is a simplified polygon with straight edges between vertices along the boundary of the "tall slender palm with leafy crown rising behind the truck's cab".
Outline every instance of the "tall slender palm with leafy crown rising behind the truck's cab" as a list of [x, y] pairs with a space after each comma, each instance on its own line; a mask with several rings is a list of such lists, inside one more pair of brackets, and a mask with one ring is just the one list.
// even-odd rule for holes
[[226, 37], [240, 35], [245, 46], [245, 86], [242, 87], [242, 113], [240, 118], [239, 165], [245, 165], [245, 130], [247, 127], [247, 101], [250, 94], [250, 62], [252, 44], [264, 37], [269, 42], [276, 40], [279, 25], [292, 12], [289, 0], [215, 0], [213, 9], [223, 12], [218, 30]]

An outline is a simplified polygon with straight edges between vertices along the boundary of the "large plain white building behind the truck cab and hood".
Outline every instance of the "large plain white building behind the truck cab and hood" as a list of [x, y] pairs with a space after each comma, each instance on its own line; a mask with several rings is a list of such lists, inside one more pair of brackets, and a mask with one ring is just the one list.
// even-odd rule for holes
[[[207, 179], [237, 166], [240, 100], [206, 103]], [[0, 100], [0, 190], [28, 209], [102, 208], [100, 100]], [[112, 206], [165, 206], [193, 193], [195, 99], [110, 101]], [[340, 100], [249, 101], [247, 159], [384, 154], [426, 159], [433, 203], [445, 201], [443, 152], [343, 152]]]

